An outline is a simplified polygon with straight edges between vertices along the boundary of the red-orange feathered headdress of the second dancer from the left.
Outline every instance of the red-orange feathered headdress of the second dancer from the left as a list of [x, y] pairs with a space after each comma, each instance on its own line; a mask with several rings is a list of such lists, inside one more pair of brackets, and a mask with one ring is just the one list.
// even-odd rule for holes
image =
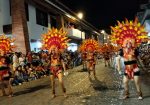
[[48, 29], [48, 32], [42, 35], [42, 49], [51, 50], [53, 47], [57, 47], [60, 50], [66, 49], [69, 39], [66, 37], [67, 32], [52, 28]]

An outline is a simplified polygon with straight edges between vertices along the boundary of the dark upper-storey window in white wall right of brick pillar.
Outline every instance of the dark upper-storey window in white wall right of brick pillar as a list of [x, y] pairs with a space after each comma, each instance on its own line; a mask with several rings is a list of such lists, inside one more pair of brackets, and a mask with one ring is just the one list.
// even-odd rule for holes
[[36, 23], [48, 27], [48, 14], [36, 8]]

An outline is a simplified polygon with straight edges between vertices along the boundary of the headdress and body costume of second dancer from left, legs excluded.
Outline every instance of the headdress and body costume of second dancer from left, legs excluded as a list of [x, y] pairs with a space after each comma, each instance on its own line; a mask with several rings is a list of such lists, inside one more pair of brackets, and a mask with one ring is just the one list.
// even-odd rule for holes
[[[67, 33], [63, 29], [49, 29], [47, 33], [42, 35], [42, 49], [48, 50], [50, 53], [50, 71], [51, 75], [57, 77], [62, 72], [62, 56], [61, 53], [67, 48], [69, 39]], [[56, 53], [54, 50], [58, 49]]]

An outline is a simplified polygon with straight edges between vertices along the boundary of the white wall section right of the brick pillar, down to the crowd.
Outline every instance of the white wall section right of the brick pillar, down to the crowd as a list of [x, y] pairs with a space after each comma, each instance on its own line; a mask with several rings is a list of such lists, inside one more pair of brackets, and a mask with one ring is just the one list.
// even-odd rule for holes
[[[28, 32], [29, 32], [29, 41], [30, 41], [30, 47], [31, 51], [39, 51], [39, 48], [41, 47], [41, 34], [47, 32], [48, 27], [51, 27], [50, 24], [50, 15], [48, 15], [48, 27], [38, 25], [36, 23], [36, 7], [32, 5], [28, 5], [29, 10], [29, 21], [28, 24]], [[31, 39], [34, 40], [34, 42], [31, 42]]]

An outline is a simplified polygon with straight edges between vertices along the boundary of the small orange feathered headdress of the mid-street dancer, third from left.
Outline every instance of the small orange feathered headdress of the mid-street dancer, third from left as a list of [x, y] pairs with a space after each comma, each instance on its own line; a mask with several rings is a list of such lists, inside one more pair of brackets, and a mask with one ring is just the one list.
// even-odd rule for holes
[[98, 51], [99, 50], [99, 43], [94, 39], [86, 39], [82, 42], [82, 44], [79, 47], [80, 52], [86, 52], [86, 51]]

